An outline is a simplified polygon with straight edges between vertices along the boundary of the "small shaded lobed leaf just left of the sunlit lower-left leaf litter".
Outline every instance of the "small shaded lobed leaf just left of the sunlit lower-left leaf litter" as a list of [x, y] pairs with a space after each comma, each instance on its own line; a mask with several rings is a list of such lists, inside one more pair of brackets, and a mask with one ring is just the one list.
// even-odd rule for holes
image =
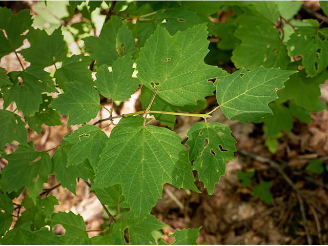
[[32, 221], [31, 230], [36, 231], [40, 230], [42, 227], [47, 225], [47, 221], [51, 219], [51, 216], [54, 212], [54, 206], [59, 205], [56, 197], [50, 195], [43, 199], [39, 196], [36, 197], [36, 204], [33, 200], [26, 196], [22, 201], [22, 207], [25, 208], [25, 211], [20, 216], [20, 223], [25, 223]]

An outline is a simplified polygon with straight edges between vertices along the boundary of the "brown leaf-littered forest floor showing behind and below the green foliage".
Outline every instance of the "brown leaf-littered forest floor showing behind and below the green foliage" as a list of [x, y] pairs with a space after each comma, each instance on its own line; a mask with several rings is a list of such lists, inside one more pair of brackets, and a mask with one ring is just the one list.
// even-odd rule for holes
[[[9, 64], [8, 60], [2, 60], [1, 66], [5, 64]], [[7, 70], [13, 71], [15, 68]], [[326, 88], [326, 84], [321, 86], [322, 99], [327, 103]], [[125, 103], [114, 107], [115, 113], [140, 110], [139, 95], [140, 90]], [[215, 101], [215, 96], [208, 97], [207, 108], [203, 111], [215, 108]], [[2, 102], [0, 99], [0, 105]], [[110, 108], [109, 103], [103, 101]], [[100, 111], [90, 123], [107, 117], [106, 113], [105, 110]], [[152, 210], [152, 214], [169, 226], [162, 229], [163, 239], [172, 243], [174, 239], [169, 234], [175, 230], [201, 226], [197, 240], [200, 244], [328, 244], [327, 171], [315, 174], [305, 170], [314, 158], [321, 157], [324, 165], [328, 163], [325, 159], [328, 155], [328, 110], [312, 114], [312, 118], [310, 125], [294, 119], [292, 132], [283, 134], [277, 152], [272, 154], [264, 146], [265, 135], [261, 124], [231, 121], [217, 110], [208, 121], [220, 122], [232, 130], [238, 147], [235, 161], [227, 163], [226, 175], [221, 177], [212, 196], [207, 194], [200, 181], [196, 181], [196, 186], [201, 194], [179, 190], [171, 185], [164, 186], [162, 199], [158, 199]], [[199, 120], [197, 117], [177, 116], [174, 131], [183, 139], [182, 144], [186, 143], [186, 133], [190, 127]], [[59, 145], [66, 134], [77, 129], [77, 126], [67, 129], [67, 117], [63, 116], [62, 122], [63, 126], [43, 125], [40, 135], [29, 130], [29, 141], [33, 140], [39, 151]], [[150, 124], [159, 126], [155, 120]], [[110, 135], [112, 128], [104, 129], [107, 135]], [[6, 147], [7, 151], [14, 149], [10, 145]], [[240, 171], [254, 172], [250, 185], [242, 185], [237, 178]], [[197, 173], [195, 176], [197, 180]], [[263, 181], [272, 185], [272, 203], [253, 195], [254, 187]], [[45, 189], [56, 185], [55, 176], [50, 175]], [[83, 180], [77, 182], [76, 196], [62, 187], [50, 194], [58, 198], [60, 205], [55, 206], [56, 212], [73, 211], [80, 214], [86, 221], [87, 230], [101, 230], [101, 224], [106, 222], [99, 200]], [[16, 202], [22, 198], [23, 195]], [[89, 236], [97, 234], [90, 232]]]

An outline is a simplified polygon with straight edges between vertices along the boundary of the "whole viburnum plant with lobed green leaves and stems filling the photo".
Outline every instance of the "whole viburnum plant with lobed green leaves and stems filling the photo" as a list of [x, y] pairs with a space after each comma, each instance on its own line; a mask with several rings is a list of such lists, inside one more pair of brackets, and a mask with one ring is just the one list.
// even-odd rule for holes
[[[150, 214], [163, 185], [199, 192], [197, 171], [212, 195], [226, 162], [234, 160], [230, 129], [207, 120], [218, 109], [231, 120], [264, 122], [274, 152], [293, 116], [309, 122], [311, 111], [324, 108], [318, 96], [328, 78], [328, 29], [320, 28], [325, 20], [295, 19], [301, 2], [69, 1], [62, 11], [51, 4], [36, 4], [33, 17], [29, 10], [13, 14], [0, 8], [0, 57], [13, 52], [22, 67], [9, 73], [0, 68], [0, 153], [8, 161], [0, 172], [1, 244], [165, 244], [152, 232], [166, 225]], [[328, 13], [326, 2], [320, 6]], [[218, 11], [230, 11], [227, 22], [216, 22]], [[83, 18], [73, 23], [76, 14]], [[96, 29], [100, 34], [91, 35]], [[209, 46], [213, 37], [219, 42]], [[17, 51], [25, 39], [30, 48]], [[80, 54], [70, 53], [73, 42]], [[227, 57], [238, 69], [231, 74], [216, 66]], [[46, 72], [49, 66], [55, 71]], [[111, 107], [108, 118], [87, 123], [104, 107], [99, 94], [125, 101], [139, 85], [144, 110], [113, 116]], [[216, 108], [192, 113], [206, 108], [213, 93]], [[15, 110], [8, 110], [13, 103]], [[68, 115], [67, 127], [82, 125], [50, 157], [28, 142], [27, 128], [40, 134], [43, 124], [61, 125], [59, 114]], [[188, 131], [187, 151], [174, 131], [147, 125], [148, 115], [172, 130], [176, 115], [203, 120]], [[115, 118], [120, 121], [107, 137], [98, 125]], [[14, 140], [17, 149], [6, 154], [5, 145]], [[50, 174], [74, 194], [76, 178], [84, 179], [118, 214], [110, 214], [108, 227], [89, 238], [80, 215], [53, 213], [57, 199], [41, 199]], [[17, 208], [12, 199], [24, 188], [28, 195], [19, 208], [25, 211], [9, 230]], [[49, 230], [56, 224], [64, 235]], [[199, 230], [177, 230], [172, 237], [175, 244], [193, 244]]]

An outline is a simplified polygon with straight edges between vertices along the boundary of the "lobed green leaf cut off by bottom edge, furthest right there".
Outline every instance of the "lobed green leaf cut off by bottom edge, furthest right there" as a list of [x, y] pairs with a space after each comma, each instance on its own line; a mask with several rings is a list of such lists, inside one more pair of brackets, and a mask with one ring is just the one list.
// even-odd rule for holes
[[172, 244], [168, 244], [163, 240], [159, 241], [159, 245], [196, 245], [198, 244], [196, 240], [198, 239], [198, 234], [201, 227], [199, 228], [189, 228], [182, 229], [181, 231], [176, 230], [173, 234], [169, 234], [169, 236], [174, 237], [175, 241]]

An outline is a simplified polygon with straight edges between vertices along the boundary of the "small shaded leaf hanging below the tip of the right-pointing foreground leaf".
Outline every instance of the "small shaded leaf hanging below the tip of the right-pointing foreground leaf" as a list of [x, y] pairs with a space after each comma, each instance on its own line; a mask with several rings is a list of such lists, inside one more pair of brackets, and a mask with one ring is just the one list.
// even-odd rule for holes
[[268, 138], [276, 136], [281, 130], [290, 133], [293, 127], [293, 116], [283, 104], [272, 103], [269, 105], [273, 115], [262, 119], [264, 133]]

